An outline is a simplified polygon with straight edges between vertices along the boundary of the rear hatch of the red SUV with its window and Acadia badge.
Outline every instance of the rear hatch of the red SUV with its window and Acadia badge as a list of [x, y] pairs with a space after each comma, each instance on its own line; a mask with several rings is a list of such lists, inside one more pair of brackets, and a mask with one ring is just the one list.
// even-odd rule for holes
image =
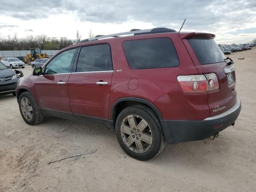
[[208, 91], [210, 116], [220, 114], [236, 103], [234, 66], [229, 66], [224, 61], [225, 56], [214, 42], [214, 37], [212, 34], [202, 33], [196, 36], [187, 35], [183, 39], [199, 74], [215, 73], [218, 78], [219, 88]]

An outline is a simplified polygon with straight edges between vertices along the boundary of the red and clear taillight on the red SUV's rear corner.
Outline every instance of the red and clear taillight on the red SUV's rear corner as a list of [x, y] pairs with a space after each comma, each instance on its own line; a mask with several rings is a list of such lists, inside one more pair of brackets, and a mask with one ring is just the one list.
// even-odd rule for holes
[[177, 80], [185, 93], [202, 93], [219, 88], [216, 74], [181, 75]]

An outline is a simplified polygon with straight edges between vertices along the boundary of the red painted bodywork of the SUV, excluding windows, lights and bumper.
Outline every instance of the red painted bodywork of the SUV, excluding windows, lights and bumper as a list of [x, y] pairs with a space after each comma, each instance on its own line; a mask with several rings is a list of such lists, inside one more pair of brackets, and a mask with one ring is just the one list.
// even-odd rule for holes
[[[211, 34], [196, 35], [211, 36]], [[154, 104], [165, 120], [203, 120], [215, 115], [212, 109], [216, 105], [220, 107], [225, 105], [225, 110], [233, 106], [236, 102], [236, 91], [234, 87], [228, 88], [227, 86], [224, 73], [227, 64], [223, 62], [201, 65], [188, 41], [182, 39], [186, 36], [191, 36], [191, 34], [146, 34], [76, 44], [60, 52], [72, 47], [99, 43], [110, 44], [114, 72], [74, 73], [47, 77], [30, 75], [22, 78], [19, 86], [24, 86], [32, 92], [39, 107], [74, 114], [112, 119], [112, 105], [116, 100], [124, 97], [136, 97]], [[122, 42], [158, 37], [168, 37], [173, 41], [180, 66], [144, 70], [130, 69]], [[179, 75], [211, 72], [216, 74], [219, 83], [219, 89], [212, 92], [184, 93], [176, 79]], [[235, 78], [234, 72], [233, 75]], [[66, 84], [58, 85], [57, 82], [60, 80], [65, 81]], [[100, 80], [108, 82], [108, 85], [96, 85], [96, 82]], [[224, 110], [216, 112], [216, 114], [221, 112]]]

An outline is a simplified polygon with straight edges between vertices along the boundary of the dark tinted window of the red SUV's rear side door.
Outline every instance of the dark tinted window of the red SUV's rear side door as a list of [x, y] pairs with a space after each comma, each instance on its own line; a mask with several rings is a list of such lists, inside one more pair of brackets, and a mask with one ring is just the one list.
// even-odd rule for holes
[[110, 46], [108, 44], [82, 47], [76, 72], [113, 70]]

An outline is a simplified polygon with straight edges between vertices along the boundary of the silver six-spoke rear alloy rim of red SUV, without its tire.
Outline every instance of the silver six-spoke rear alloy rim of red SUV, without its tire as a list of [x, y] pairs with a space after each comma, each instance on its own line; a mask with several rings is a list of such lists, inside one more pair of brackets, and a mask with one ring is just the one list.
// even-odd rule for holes
[[124, 144], [133, 152], [144, 153], [152, 145], [153, 135], [145, 119], [138, 115], [128, 115], [120, 128]]

